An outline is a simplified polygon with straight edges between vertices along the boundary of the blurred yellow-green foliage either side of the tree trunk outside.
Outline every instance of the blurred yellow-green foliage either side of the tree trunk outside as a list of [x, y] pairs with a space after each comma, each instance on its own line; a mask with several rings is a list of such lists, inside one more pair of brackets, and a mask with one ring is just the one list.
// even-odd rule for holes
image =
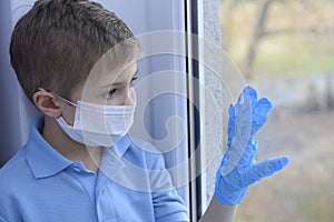
[[[227, 52], [243, 71], [261, 1], [232, 2], [222, 3], [222, 33]], [[258, 39], [253, 78], [333, 72], [333, 20], [332, 1], [274, 1]]]

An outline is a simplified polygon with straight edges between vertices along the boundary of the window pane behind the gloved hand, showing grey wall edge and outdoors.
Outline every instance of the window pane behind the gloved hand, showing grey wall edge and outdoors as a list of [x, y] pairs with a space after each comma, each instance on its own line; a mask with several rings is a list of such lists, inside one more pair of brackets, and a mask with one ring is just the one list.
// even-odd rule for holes
[[[245, 84], [274, 104], [257, 134], [257, 160], [288, 155], [283, 171], [250, 186], [236, 221], [330, 221], [334, 141], [332, 1], [196, 1], [193, 33], [200, 118], [197, 215], [214, 194], [228, 104]], [[219, 14], [216, 14], [216, 12]], [[218, 22], [220, 20], [220, 22]], [[223, 49], [223, 50], [220, 50]], [[216, 110], [215, 110], [216, 109]], [[220, 115], [220, 117], [218, 117]], [[317, 149], [314, 149], [314, 148]], [[199, 174], [197, 172], [197, 174]], [[307, 195], [306, 195], [307, 193]], [[264, 210], [265, 209], [265, 210]]]

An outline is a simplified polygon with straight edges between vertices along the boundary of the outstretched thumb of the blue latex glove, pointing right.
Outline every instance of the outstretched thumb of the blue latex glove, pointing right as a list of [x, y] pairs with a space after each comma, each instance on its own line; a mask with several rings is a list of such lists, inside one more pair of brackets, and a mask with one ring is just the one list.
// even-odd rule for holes
[[287, 163], [288, 163], [288, 159], [285, 157], [264, 160], [248, 168], [244, 172], [244, 178], [247, 180], [248, 185], [250, 185], [263, 178], [273, 175], [273, 173], [282, 170]]

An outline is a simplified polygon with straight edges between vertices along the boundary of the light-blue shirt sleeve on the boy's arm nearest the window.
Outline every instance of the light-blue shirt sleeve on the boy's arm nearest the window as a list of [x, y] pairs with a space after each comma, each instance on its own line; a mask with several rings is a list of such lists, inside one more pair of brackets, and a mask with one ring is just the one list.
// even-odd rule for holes
[[157, 155], [153, 169], [150, 181], [156, 221], [189, 221], [186, 204], [173, 186], [163, 154]]

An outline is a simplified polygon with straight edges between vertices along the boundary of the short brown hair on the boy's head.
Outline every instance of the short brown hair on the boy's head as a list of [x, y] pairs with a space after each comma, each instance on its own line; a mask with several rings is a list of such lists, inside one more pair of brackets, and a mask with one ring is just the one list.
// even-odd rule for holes
[[99, 3], [39, 0], [14, 27], [11, 64], [31, 101], [39, 87], [68, 98], [99, 58], [120, 43], [128, 48], [118, 57], [138, 53], [139, 43], [129, 28]]

